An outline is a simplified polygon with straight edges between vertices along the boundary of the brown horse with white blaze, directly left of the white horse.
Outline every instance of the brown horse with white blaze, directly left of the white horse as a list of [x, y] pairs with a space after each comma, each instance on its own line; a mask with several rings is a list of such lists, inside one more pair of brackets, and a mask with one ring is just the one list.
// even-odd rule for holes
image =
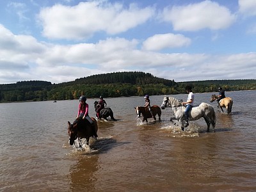
[[[150, 111], [148, 110], [147, 107], [137, 107], [135, 108], [136, 109], [136, 113], [137, 113], [137, 116], [140, 117], [140, 115], [142, 114], [143, 116], [143, 122], [146, 121], [148, 122], [148, 118], [152, 118], [152, 115], [150, 113]], [[153, 114], [153, 118], [154, 120], [156, 120], [156, 115], [158, 115], [158, 120], [159, 122], [161, 121], [161, 114], [162, 114], [162, 111], [161, 111], [161, 108], [159, 108], [159, 106], [151, 106], [151, 111], [152, 111], [152, 114]]]

